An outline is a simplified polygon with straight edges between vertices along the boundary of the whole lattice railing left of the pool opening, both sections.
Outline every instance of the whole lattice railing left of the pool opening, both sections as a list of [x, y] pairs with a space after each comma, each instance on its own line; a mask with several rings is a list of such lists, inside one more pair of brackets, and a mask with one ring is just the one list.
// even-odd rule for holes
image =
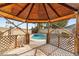
[[26, 44], [25, 35], [0, 36], [0, 54]]

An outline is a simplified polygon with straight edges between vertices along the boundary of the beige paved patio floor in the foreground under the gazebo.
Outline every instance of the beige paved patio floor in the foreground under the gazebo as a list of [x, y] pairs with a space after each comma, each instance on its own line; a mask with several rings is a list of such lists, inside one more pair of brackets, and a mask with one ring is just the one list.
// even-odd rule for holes
[[57, 48], [50, 44], [44, 44], [37, 48], [26, 45], [6, 52], [4, 55], [14, 56], [75, 56], [73, 53]]

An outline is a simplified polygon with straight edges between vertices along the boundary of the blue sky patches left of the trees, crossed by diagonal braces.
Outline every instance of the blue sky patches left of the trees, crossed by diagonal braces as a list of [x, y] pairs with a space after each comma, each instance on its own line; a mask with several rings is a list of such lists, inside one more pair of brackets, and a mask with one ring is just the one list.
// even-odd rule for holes
[[[21, 22], [14, 21], [14, 20], [10, 20], [10, 21], [14, 22], [15, 25], [18, 25], [18, 24], [21, 23]], [[0, 18], [0, 27], [9, 27], [9, 26], [14, 27], [14, 25], [12, 25], [12, 24], [6, 24], [6, 19], [5, 19], [5, 18]], [[36, 26], [36, 25], [33, 24], [33, 23], [29, 23], [29, 24], [28, 24], [29, 29], [31, 29], [31, 28], [34, 27], [34, 26]], [[20, 25], [20, 26], [18, 26], [18, 27], [20, 27], [20, 28], [26, 28], [26, 23], [23, 23], [22, 25]]]

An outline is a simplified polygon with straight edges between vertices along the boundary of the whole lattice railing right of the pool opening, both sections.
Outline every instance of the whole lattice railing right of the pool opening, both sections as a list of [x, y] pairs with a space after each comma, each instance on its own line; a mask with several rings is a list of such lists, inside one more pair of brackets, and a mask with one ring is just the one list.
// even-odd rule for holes
[[[60, 33], [61, 31], [61, 33]], [[64, 31], [64, 30], [63, 30]], [[51, 33], [50, 44], [67, 50], [69, 52], [75, 53], [74, 51], [74, 34], [69, 32], [68, 35], [62, 34], [62, 30], [55, 30]]]

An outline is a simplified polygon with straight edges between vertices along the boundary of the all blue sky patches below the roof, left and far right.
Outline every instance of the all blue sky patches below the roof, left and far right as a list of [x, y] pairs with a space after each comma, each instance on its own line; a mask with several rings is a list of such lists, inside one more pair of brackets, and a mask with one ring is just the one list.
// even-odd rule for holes
[[[18, 24], [21, 23], [21, 22], [14, 21], [14, 20], [11, 20], [11, 21], [13, 21], [16, 25], [18, 25]], [[75, 24], [75, 23], [76, 23], [76, 19], [70, 19], [70, 20], [68, 21], [67, 26], [72, 25], [72, 24]], [[8, 25], [8, 26], [7, 26], [7, 25]], [[0, 18], [0, 27], [9, 27], [9, 26], [12, 26], [12, 27], [13, 27], [13, 25], [11, 25], [11, 24], [6, 24], [5, 18]], [[36, 26], [36, 25], [33, 24], [33, 23], [28, 24], [29, 29], [31, 29], [31, 28], [34, 27], [34, 26]], [[26, 28], [26, 24], [24, 23], [24, 24], [20, 25], [19, 27], [21, 27], [21, 28]]]

